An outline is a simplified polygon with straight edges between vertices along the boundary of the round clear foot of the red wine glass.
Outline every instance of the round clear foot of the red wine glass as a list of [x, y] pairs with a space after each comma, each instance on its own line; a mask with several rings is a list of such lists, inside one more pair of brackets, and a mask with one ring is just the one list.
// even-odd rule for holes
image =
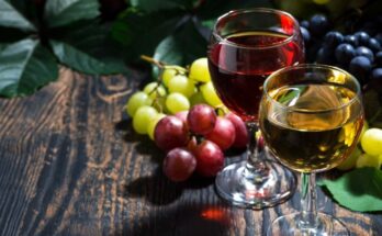
[[248, 171], [247, 161], [225, 167], [215, 180], [217, 194], [228, 203], [260, 210], [289, 199], [295, 190], [296, 179], [292, 171], [273, 160], [266, 160], [267, 171]]

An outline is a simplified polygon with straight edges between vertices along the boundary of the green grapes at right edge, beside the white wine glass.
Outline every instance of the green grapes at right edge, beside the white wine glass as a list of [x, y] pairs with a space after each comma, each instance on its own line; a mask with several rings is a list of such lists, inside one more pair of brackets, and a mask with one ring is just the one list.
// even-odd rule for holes
[[374, 167], [380, 169], [382, 166], [382, 130], [377, 127], [363, 126], [359, 145], [355, 148], [348, 159], [337, 168], [349, 170], [351, 168]]

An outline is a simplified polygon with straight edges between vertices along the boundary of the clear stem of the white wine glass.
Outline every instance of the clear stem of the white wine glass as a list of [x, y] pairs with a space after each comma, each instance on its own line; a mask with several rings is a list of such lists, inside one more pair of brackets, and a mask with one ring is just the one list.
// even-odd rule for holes
[[317, 227], [316, 206], [316, 175], [301, 173], [301, 207], [302, 214], [299, 222], [300, 228]]

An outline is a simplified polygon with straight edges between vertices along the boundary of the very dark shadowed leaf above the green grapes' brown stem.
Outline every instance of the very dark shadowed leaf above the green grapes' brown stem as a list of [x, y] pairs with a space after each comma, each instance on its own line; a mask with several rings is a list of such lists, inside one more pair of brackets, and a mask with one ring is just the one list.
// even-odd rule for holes
[[158, 43], [182, 24], [179, 11], [144, 14], [126, 10], [113, 24], [112, 36], [124, 45], [125, 58], [136, 60], [139, 55], [153, 55]]

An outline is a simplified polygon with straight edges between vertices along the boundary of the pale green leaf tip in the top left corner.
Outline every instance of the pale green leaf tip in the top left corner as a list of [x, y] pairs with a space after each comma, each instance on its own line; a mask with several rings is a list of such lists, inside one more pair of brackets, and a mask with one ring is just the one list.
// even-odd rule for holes
[[11, 3], [4, 0], [0, 0], [0, 25], [23, 31], [36, 30]]

